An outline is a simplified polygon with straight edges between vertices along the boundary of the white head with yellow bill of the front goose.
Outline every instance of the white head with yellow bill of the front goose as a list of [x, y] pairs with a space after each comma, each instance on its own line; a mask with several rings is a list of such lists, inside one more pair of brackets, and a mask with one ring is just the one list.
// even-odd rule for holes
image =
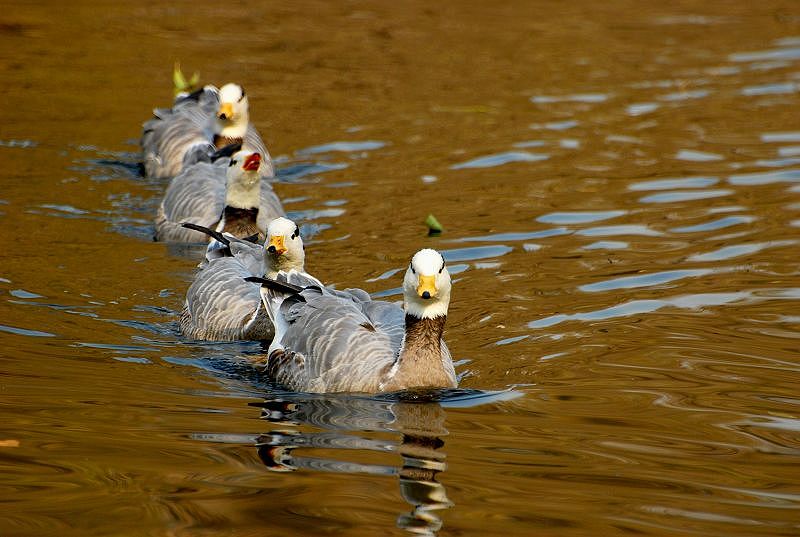
[[426, 248], [411, 258], [403, 279], [406, 314], [420, 319], [447, 315], [450, 304], [450, 273], [442, 254]]

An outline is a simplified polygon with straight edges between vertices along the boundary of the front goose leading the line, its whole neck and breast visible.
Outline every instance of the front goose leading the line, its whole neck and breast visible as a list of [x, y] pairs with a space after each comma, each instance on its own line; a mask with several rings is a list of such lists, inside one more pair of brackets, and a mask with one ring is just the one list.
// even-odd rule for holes
[[281, 273], [277, 280], [260, 280], [275, 325], [266, 370], [287, 388], [376, 393], [456, 387], [442, 339], [450, 275], [439, 252], [420, 250], [411, 259], [402, 308], [371, 300], [361, 290], [307, 285], [292, 273]]

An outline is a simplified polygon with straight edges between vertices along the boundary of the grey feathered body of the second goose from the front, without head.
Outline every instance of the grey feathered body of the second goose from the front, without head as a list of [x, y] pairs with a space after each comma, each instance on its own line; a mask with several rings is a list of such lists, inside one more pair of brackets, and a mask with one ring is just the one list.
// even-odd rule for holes
[[253, 274], [237, 257], [211, 261], [198, 271], [186, 293], [181, 331], [194, 339], [271, 339], [272, 323]]

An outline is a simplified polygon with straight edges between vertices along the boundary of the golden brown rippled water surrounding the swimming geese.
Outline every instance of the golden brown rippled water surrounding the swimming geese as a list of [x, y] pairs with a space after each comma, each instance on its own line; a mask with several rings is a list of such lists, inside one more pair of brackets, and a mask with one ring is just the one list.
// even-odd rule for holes
[[[1, 535], [800, 534], [796, 3], [197, 4], [3, 6]], [[180, 337], [175, 60], [247, 88], [317, 276], [444, 251], [469, 391]]]

